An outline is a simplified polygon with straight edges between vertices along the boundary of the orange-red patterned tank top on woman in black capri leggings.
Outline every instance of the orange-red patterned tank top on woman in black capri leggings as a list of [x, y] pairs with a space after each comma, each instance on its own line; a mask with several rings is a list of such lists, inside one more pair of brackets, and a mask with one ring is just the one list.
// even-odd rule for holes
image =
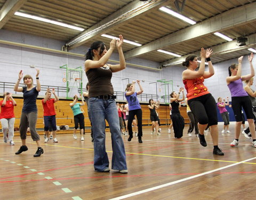
[[187, 90], [188, 100], [210, 93], [207, 87], [204, 86], [203, 76], [194, 79], [184, 79], [183, 83]]

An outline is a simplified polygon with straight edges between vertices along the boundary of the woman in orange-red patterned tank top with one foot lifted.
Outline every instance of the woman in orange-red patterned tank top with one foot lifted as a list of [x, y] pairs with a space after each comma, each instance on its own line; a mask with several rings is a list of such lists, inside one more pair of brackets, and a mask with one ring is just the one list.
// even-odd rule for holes
[[[209, 124], [211, 126], [211, 136], [213, 140], [213, 154], [224, 155], [218, 147], [218, 118], [217, 108], [214, 98], [204, 86], [204, 79], [214, 75], [214, 69], [210, 56], [211, 49], [201, 49], [201, 63], [198, 71], [199, 62], [196, 55], [188, 55], [186, 61], [182, 62], [183, 66], [188, 69], [182, 73], [182, 80], [187, 90], [188, 105], [198, 120], [199, 140], [202, 146], [206, 147], [207, 143], [204, 138], [204, 130]], [[205, 71], [205, 60], [208, 63], [209, 71]]]

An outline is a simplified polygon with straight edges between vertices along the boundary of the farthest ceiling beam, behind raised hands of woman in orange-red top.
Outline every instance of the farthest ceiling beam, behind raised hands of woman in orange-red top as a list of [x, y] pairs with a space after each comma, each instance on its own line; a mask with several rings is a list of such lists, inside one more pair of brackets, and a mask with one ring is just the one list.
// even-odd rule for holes
[[[247, 36], [248, 41], [250, 44], [247, 44], [245, 46], [238, 46], [237, 45], [237, 40], [235, 39], [234, 41], [231, 42], [226, 42], [217, 46], [213, 46], [210, 49], [212, 49], [213, 54], [211, 55], [212, 58], [218, 57], [218, 55], [225, 54], [225, 53], [231, 53], [235, 51], [241, 51], [249, 48], [253, 48], [256, 46], [256, 34], [252, 34], [250, 36]], [[200, 56], [200, 51], [193, 52], [191, 54], [198, 55]], [[164, 67], [167, 66], [175, 66], [175, 65], [180, 65], [183, 61], [185, 61], [187, 55], [183, 55], [180, 58], [174, 58], [169, 61], [162, 62], [161, 65]]]

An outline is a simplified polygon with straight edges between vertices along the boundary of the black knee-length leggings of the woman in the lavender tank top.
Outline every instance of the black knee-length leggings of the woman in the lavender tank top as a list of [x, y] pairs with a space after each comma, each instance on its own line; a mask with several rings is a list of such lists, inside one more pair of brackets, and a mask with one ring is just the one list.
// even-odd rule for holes
[[247, 119], [253, 119], [252, 114], [252, 101], [249, 96], [245, 97], [232, 97], [232, 108], [236, 118], [236, 122], [242, 122], [242, 107]]

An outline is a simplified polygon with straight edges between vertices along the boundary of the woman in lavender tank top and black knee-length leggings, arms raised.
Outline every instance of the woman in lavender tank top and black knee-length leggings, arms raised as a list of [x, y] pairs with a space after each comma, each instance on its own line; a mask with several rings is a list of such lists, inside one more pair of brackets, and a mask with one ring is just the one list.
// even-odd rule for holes
[[253, 114], [252, 114], [252, 102], [248, 94], [243, 89], [242, 81], [249, 80], [254, 76], [254, 69], [252, 66], [253, 53], [248, 56], [250, 63], [251, 74], [242, 76], [242, 60], [243, 57], [238, 58], [238, 65], [233, 64], [228, 68], [229, 76], [226, 78], [228, 88], [231, 93], [232, 108], [236, 118], [235, 126], [235, 140], [230, 143], [231, 147], [238, 146], [238, 139], [241, 131], [242, 125], [242, 107], [245, 111], [247, 121], [252, 134], [252, 146], [256, 147], [256, 138], [255, 138], [255, 125], [253, 123]]

